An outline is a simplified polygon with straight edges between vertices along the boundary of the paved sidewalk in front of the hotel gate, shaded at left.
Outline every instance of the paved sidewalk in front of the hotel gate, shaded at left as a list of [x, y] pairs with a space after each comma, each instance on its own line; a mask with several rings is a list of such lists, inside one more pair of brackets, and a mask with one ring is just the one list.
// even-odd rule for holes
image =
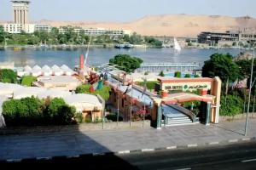
[[206, 144], [237, 142], [256, 137], [256, 119], [249, 122], [247, 137], [243, 136], [245, 121], [220, 122], [115, 131], [83, 131], [0, 136], [0, 160], [49, 156], [79, 156], [87, 153], [152, 150]]

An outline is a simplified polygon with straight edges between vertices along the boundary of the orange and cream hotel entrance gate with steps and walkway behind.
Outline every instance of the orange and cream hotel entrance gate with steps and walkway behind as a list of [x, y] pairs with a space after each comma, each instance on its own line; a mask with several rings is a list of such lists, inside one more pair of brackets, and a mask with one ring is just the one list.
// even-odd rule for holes
[[[218, 114], [220, 107], [221, 81], [218, 77], [214, 78], [160, 78], [160, 95], [150, 92], [143, 92], [143, 88], [133, 85], [129, 91], [124, 85], [117, 85], [117, 82], [108, 81], [112, 91], [110, 94], [110, 103], [118, 109], [119, 115], [123, 116], [124, 121], [131, 120], [131, 117], [137, 114], [146, 114], [151, 116], [152, 125], [157, 128], [170, 126], [173, 117], [183, 116], [189, 119], [189, 123], [210, 122], [218, 123]], [[128, 89], [128, 88], [126, 88]], [[194, 91], [200, 91], [200, 94], [193, 94]], [[191, 111], [181, 105], [187, 101], [201, 102], [201, 116], [195, 116]], [[173, 112], [174, 111], [174, 112]]]

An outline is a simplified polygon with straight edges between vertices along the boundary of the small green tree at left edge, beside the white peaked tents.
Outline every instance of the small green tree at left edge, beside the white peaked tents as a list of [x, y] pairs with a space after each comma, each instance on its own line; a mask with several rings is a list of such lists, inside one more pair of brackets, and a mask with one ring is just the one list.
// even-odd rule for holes
[[10, 69], [0, 70], [0, 82], [9, 82], [9, 83], [17, 82], [16, 72]]

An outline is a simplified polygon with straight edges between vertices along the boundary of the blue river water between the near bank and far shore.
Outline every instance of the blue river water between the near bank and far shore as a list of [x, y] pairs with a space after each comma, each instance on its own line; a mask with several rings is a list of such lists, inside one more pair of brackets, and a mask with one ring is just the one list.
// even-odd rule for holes
[[[88, 64], [101, 65], [107, 63], [116, 54], [130, 54], [143, 59], [146, 63], [174, 62], [174, 63], [201, 63], [214, 53], [240, 54], [240, 49], [199, 49], [184, 48], [180, 53], [174, 53], [172, 48], [90, 48]], [[25, 65], [68, 65], [73, 68], [79, 64], [81, 48], [74, 50], [36, 49], [27, 48], [15, 51], [13, 48], [0, 50], [0, 62], [14, 61], [15, 66]], [[84, 52], [85, 53], [85, 52]]]

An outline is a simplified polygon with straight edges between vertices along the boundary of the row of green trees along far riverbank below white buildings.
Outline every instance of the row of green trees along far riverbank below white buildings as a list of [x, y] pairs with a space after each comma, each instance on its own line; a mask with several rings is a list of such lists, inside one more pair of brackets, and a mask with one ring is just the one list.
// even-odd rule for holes
[[[90, 41], [90, 35], [83, 30], [76, 32], [73, 26], [62, 26], [65, 31], [60, 32], [58, 28], [52, 27], [51, 31], [35, 31], [32, 34], [21, 32], [20, 34], [9, 34], [0, 26], [0, 45], [83, 45]], [[162, 47], [162, 42], [154, 37], [143, 37], [136, 32], [129, 35], [113, 37], [109, 35], [92, 36], [91, 44], [114, 44], [130, 42], [131, 44], [144, 44], [149, 47]]]

